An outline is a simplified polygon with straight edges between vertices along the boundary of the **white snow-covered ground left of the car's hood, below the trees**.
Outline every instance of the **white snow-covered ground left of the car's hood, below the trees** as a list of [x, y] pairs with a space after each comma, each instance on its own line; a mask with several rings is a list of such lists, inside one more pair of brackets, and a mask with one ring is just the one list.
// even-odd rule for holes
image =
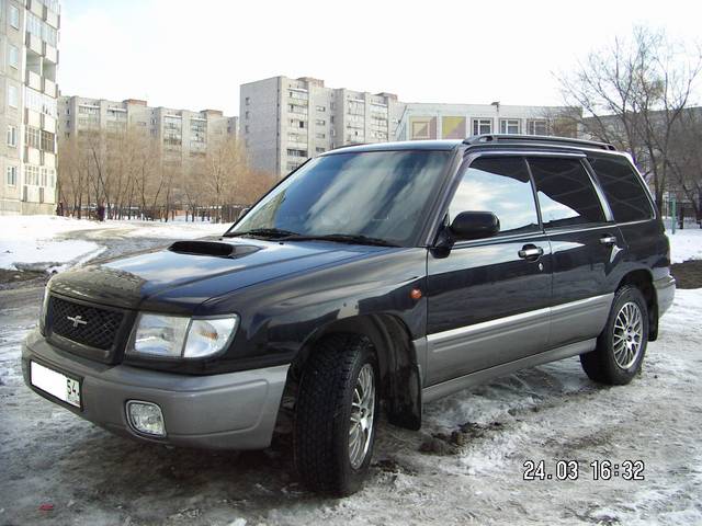
[[[98, 256], [111, 236], [194, 239], [222, 233], [226, 228], [227, 225], [208, 222], [98, 222], [58, 216], [2, 216], [0, 268], [60, 272]], [[71, 239], [90, 232], [94, 232], [95, 240]]]

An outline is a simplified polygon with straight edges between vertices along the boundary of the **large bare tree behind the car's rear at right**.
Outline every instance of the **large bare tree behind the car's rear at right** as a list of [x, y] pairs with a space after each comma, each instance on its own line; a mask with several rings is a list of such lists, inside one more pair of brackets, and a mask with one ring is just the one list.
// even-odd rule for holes
[[[690, 57], [693, 58], [690, 58]], [[564, 118], [592, 138], [627, 150], [652, 182], [661, 206], [671, 165], [672, 133], [702, 67], [664, 32], [635, 27], [632, 38], [592, 52], [578, 68], [561, 75], [564, 101], [584, 112]]]

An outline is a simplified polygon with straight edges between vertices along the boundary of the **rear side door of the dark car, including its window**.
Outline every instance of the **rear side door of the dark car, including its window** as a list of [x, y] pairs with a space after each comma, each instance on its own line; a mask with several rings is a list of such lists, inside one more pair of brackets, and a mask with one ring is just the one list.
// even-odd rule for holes
[[550, 347], [597, 336], [613, 297], [621, 233], [582, 160], [528, 158], [553, 252]]

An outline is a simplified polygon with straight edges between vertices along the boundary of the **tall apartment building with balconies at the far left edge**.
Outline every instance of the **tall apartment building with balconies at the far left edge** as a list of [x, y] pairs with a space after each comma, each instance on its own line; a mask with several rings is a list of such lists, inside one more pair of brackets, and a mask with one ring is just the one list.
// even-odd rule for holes
[[58, 0], [0, 2], [0, 215], [56, 203]]

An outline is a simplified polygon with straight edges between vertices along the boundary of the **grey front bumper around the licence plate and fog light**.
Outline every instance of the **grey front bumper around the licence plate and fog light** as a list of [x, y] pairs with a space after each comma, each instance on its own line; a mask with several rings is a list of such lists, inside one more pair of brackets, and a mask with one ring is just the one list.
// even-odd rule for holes
[[[30, 362], [76, 377], [82, 408], [64, 404], [79, 416], [116, 434], [207, 449], [260, 449], [271, 443], [288, 365], [211, 376], [185, 376], [105, 365], [69, 355], [50, 345], [38, 330], [22, 344], [25, 384]], [[167, 436], [143, 435], [127, 421], [126, 402], [143, 400], [161, 408]]]

